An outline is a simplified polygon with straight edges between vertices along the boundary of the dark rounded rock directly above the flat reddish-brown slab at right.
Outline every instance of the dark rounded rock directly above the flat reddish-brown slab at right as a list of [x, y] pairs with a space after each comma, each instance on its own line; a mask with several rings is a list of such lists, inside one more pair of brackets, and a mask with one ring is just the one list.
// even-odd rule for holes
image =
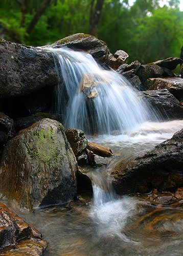
[[136, 72], [136, 75], [139, 76], [143, 84], [148, 78], [175, 76], [175, 74], [172, 71], [166, 68], [159, 67], [153, 63], [141, 65], [141, 67]]

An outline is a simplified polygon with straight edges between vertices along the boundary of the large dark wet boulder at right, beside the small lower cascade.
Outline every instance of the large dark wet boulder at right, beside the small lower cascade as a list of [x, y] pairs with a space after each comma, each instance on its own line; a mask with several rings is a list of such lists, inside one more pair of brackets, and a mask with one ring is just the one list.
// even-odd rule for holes
[[183, 186], [183, 129], [169, 140], [120, 160], [110, 169], [113, 186], [120, 195], [174, 191]]

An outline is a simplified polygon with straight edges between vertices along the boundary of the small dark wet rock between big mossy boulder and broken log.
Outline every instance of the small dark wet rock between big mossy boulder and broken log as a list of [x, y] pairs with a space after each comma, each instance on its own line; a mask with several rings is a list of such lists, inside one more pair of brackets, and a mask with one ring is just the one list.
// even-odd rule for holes
[[80, 156], [88, 145], [84, 132], [79, 129], [69, 128], [65, 131], [65, 135], [71, 144], [75, 156]]

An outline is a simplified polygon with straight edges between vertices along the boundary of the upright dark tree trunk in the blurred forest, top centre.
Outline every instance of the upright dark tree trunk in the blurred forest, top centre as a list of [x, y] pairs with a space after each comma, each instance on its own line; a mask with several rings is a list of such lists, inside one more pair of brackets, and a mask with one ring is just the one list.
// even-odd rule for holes
[[89, 18], [89, 34], [97, 36], [97, 31], [102, 13], [104, 0], [97, 0], [94, 11], [94, 0], [91, 0], [90, 18]]

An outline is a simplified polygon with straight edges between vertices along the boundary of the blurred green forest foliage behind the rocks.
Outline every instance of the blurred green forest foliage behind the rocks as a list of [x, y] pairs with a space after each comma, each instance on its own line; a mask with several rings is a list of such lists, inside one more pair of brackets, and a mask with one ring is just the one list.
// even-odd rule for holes
[[0, 0], [0, 37], [31, 46], [51, 44], [67, 35], [89, 33], [128, 62], [179, 57], [183, 12], [178, 0]]

